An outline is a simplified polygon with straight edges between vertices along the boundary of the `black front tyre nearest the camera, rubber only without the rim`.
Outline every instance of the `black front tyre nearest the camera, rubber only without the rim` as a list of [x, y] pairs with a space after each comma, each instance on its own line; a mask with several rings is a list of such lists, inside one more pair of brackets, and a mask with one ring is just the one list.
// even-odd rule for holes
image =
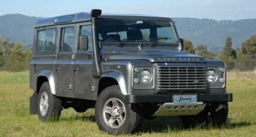
[[[120, 99], [126, 109], [126, 118], [123, 122], [123, 125], [118, 128], [112, 128], [108, 126], [103, 119], [103, 107], [107, 100], [109, 100], [110, 98]], [[136, 107], [132, 107], [131, 104], [125, 103], [124, 96], [121, 93], [118, 85], [108, 87], [101, 92], [95, 105], [95, 119], [100, 130], [115, 135], [133, 134], [140, 129], [143, 123], [143, 117], [137, 113]]]

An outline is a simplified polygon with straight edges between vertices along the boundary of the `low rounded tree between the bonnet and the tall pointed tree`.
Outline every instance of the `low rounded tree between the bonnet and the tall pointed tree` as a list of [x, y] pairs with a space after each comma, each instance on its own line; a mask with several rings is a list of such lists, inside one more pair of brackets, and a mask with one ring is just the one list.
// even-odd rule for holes
[[207, 45], [201, 44], [196, 46], [195, 54], [204, 57], [205, 59], [215, 59], [216, 55], [207, 50]]

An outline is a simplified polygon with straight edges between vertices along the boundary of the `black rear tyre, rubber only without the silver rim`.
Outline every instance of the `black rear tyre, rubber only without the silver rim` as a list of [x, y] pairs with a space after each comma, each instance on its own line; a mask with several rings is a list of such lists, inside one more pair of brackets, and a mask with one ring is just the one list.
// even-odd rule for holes
[[[41, 95], [43, 93], [46, 93], [48, 95], [48, 110], [44, 116], [41, 115], [40, 112], [40, 99]], [[49, 85], [49, 82], [44, 82], [41, 85], [41, 88], [39, 90], [39, 96], [38, 96], [38, 110], [37, 110], [37, 115], [41, 121], [54, 121], [58, 120], [61, 116], [61, 99], [56, 97], [55, 95], [51, 94], [51, 88]]]

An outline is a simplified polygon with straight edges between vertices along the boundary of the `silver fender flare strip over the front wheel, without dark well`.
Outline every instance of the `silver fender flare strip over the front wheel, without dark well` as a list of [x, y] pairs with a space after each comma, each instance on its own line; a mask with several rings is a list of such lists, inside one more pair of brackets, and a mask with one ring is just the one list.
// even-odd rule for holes
[[119, 85], [121, 93], [123, 95], [128, 95], [125, 79], [124, 79], [124, 76], [123, 76], [122, 72], [116, 71], [116, 70], [105, 71], [102, 74], [99, 81], [101, 81], [102, 78], [114, 78], [117, 81], [118, 85]]

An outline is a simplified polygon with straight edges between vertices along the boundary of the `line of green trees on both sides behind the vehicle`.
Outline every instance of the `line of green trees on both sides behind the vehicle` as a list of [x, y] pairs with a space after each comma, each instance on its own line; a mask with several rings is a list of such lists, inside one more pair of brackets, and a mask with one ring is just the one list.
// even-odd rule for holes
[[[22, 49], [20, 43], [10, 43], [9, 39], [0, 37], [0, 70], [22, 71], [29, 69], [31, 50]], [[194, 48], [190, 40], [184, 39], [184, 51], [189, 54], [197, 54], [205, 59], [219, 59], [225, 62], [226, 69], [238, 69], [250, 71], [256, 68], [256, 34], [244, 41], [240, 49], [233, 49], [232, 38], [227, 37], [223, 50], [214, 53], [207, 49], [207, 45], [201, 44]]]

